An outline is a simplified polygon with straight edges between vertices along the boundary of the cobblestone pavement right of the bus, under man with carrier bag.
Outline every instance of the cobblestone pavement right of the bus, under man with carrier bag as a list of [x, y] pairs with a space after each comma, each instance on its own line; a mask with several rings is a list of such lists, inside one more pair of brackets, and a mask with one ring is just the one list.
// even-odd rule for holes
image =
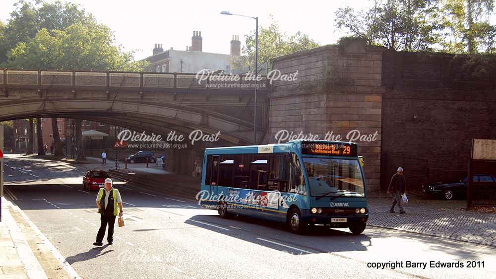
[[410, 200], [389, 212], [391, 199], [369, 199], [369, 225], [496, 246], [496, 214], [465, 210], [465, 201]]

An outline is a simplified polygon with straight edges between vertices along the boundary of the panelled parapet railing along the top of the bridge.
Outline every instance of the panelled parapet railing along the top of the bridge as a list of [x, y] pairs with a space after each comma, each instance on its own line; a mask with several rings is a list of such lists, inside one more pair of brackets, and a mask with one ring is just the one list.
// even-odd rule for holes
[[[210, 78], [196, 73], [0, 70], [0, 87], [23, 89], [107, 89], [157, 91], [167, 89], [253, 90], [254, 80], [246, 76], [213, 74]], [[267, 90], [263, 76], [257, 81], [260, 91]]]

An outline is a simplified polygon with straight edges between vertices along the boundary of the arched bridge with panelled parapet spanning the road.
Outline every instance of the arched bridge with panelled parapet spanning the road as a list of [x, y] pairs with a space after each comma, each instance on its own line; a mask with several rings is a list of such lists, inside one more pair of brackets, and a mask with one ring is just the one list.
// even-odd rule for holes
[[[227, 77], [218, 75], [221, 77]], [[220, 133], [253, 142], [254, 81], [211, 81], [196, 74], [0, 70], [0, 121], [86, 119], [135, 131]], [[267, 132], [267, 82], [258, 81], [257, 138]]]

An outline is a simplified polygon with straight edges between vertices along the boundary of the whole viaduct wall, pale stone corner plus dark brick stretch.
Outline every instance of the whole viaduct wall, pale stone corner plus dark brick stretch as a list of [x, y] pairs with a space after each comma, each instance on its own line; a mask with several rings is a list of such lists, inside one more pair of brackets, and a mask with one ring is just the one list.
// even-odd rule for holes
[[399, 166], [414, 190], [464, 176], [471, 140], [496, 139], [496, 64], [473, 58], [389, 52], [360, 39], [276, 58], [274, 69], [299, 74], [272, 85], [264, 142], [290, 140], [281, 131], [348, 141], [358, 130], [369, 190], [385, 189]]

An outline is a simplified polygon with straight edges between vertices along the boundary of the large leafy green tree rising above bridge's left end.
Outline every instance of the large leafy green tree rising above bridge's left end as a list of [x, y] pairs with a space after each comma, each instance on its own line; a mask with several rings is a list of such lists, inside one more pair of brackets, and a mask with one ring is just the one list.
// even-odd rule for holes
[[[3, 61], [10, 68], [120, 71], [141, 71], [147, 66], [147, 62], [134, 61], [134, 51], [123, 52], [110, 28], [98, 24], [77, 5], [38, 3], [41, 6], [24, 0], [16, 4], [4, 28], [6, 42], [0, 41], [0, 64]], [[53, 129], [54, 147], [62, 152], [57, 125]]]

